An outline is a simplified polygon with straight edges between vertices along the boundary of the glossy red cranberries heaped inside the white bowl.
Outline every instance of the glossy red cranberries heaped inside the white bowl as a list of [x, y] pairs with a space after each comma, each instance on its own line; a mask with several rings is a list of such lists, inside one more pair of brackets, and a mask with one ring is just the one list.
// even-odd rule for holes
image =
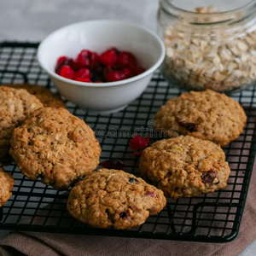
[[95, 83], [129, 79], [144, 71], [142, 67], [137, 67], [135, 55], [127, 51], [119, 52], [116, 48], [108, 49], [102, 55], [83, 49], [74, 61], [67, 56], [59, 57], [55, 66], [55, 73], [67, 79]]

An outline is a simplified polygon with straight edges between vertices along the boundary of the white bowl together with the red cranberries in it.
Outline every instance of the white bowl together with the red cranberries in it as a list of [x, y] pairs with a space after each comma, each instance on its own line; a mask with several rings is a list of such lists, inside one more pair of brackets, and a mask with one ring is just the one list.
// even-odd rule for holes
[[64, 26], [38, 47], [38, 62], [61, 95], [98, 113], [120, 111], [140, 96], [164, 57], [157, 34], [120, 20]]

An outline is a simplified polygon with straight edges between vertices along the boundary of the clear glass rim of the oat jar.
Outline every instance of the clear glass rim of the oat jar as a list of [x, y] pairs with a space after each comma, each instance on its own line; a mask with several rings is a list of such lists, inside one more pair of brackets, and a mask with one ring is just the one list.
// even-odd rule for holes
[[[199, 13], [189, 11], [187, 9], [181, 9], [174, 5], [172, 0], [160, 0], [160, 8], [168, 15], [171, 15], [173, 18], [177, 18], [178, 20], [184, 20], [185, 18], [189, 23], [193, 23], [195, 25], [214, 25], [219, 23], [237, 22], [239, 20], [244, 20], [245, 17], [256, 14], [256, 0], [252, 0], [236, 9], [211, 13]], [[198, 20], [199, 17], [201, 18], [200, 20]]]

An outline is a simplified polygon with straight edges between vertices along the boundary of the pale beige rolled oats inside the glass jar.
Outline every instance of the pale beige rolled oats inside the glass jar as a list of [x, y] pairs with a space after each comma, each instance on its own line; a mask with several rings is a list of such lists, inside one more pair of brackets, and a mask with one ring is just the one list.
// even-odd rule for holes
[[[217, 12], [214, 7], [195, 11]], [[198, 37], [196, 32], [186, 34], [181, 27], [168, 26], [164, 32], [163, 69], [172, 84], [192, 90], [230, 91], [256, 80], [255, 31], [234, 32], [223, 38], [211, 31], [211, 36]]]

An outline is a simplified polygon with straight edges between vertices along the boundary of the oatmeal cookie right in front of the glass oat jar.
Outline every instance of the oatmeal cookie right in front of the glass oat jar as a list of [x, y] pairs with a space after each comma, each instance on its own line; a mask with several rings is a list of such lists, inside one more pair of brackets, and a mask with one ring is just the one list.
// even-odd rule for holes
[[212, 90], [190, 91], [169, 100], [154, 116], [155, 128], [207, 139], [224, 146], [243, 131], [247, 116], [239, 102]]

